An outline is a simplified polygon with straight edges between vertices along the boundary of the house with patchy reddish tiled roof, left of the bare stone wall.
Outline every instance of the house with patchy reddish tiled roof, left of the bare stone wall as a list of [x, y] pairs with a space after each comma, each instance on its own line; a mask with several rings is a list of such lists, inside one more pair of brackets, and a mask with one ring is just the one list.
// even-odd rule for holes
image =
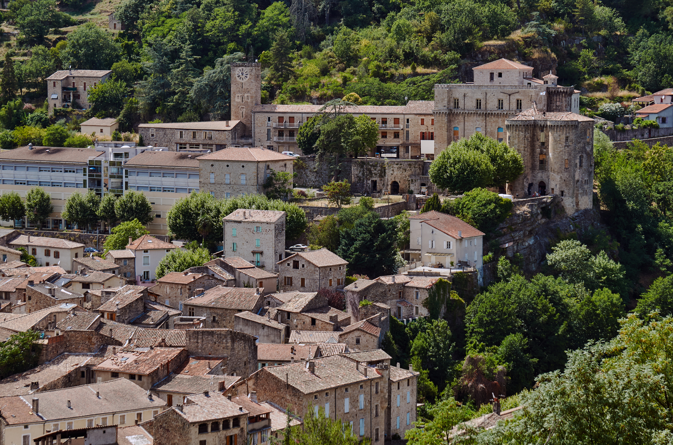
[[112, 350], [112, 356], [91, 366], [96, 383], [126, 378], [145, 391], [176, 370], [189, 357], [184, 348], [149, 348], [147, 352]]

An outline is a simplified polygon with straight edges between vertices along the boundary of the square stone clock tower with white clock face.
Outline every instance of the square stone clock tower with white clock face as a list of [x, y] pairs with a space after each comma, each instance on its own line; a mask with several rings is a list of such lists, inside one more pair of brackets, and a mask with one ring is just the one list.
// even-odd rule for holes
[[252, 136], [252, 106], [262, 103], [262, 64], [232, 63], [232, 120], [246, 125]]

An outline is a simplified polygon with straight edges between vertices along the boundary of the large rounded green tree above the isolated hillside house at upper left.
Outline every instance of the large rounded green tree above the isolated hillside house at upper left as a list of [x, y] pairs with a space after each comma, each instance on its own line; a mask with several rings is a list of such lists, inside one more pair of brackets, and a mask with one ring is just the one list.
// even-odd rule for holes
[[68, 34], [68, 46], [61, 58], [63, 66], [72, 69], [110, 69], [120, 55], [111, 32], [94, 22], [86, 22]]

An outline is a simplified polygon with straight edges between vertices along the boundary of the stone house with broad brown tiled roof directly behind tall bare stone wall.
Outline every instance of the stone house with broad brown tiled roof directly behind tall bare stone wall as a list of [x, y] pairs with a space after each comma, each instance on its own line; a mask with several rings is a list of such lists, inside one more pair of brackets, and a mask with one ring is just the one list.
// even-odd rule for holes
[[188, 317], [205, 317], [203, 327], [234, 329], [234, 315], [243, 311], [257, 313], [264, 304], [260, 288], [225, 288], [215, 286], [203, 294], [184, 300], [182, 313]]

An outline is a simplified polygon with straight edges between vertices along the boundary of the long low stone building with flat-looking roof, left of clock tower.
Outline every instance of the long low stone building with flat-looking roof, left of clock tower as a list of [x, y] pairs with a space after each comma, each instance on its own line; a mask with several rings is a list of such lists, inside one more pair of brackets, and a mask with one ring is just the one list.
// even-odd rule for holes
[[245, 132], [245, 124], [240, 120], [139, 124], [138, 132], [143, 142], [152, 147], [214, 152], [236, 145]]

